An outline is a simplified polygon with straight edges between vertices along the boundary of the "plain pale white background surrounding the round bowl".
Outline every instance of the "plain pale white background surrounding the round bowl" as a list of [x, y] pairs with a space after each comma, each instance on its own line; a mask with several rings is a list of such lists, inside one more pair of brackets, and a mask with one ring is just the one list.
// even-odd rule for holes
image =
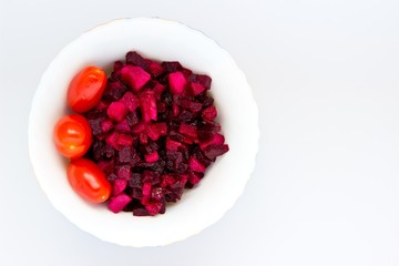
[[[115, 18], [154, 16], [232, 53], [262, 136], [222, 221], [137, 249], [96, 239], [51, 206], [27, 130], [40, 76], [66, 43]], [[0, 265], [399, 265], [398, 1], [0, 0]]]

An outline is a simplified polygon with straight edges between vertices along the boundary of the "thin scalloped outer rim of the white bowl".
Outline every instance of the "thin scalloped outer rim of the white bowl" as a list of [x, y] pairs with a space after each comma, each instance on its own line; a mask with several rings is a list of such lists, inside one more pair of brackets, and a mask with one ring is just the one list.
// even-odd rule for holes
[[[241, 192], [235, 196], [235, 200], [231, 202], [231, 204], [228, 206], [225, 207], [225, 211], [218, 215], [215, 216], [215, 218], [206, 224], [206, 226], [202, 227], [202, 228], [198, 228], [196, 231], [193, 231], [191, 234], [187, 234], [183, 237], [178, 237], [178, 238], [175, 238], [173, 241], [170, 241], [170, 242], [166, 242], [166, 243], [161, 243], [161, 244], [157, 244], [157, 245], [137, 245], [137, 244], [125, 244], [125, 243], [116, 243], [116, 242], [113, 242], [113, 241], [110, 241], [110, 239], [105, 239], [105, 238], [102, 238], [101, 236], [96, 235], [96, 234], [93, 234], [92, 232], [89, 232], [84, 228], [82, 228], [81, 226], [79, 226], [78, 224], [75, 224], [74, 222], [72, 222], [69, 216], [63, 212], [61, 211], [59, 207], [57, 207], [54, 205], [54, 203], [52, 202], [51, 197], [48, 195], [47, 191], [44, 190], [44, 187], [42, 186], [42, 183], [39, 178], [39, 175], [38, 175], [38, 166], [35, 165], [34, 163], [34, 149], [32, 147], [32, 134], [33, 134], [33, 116], [34, 116], [34, 105], [35, 105], [35, 102], [38, 102], [38, 99], [39, 99], [39, 93], [42, 88], [42, 83], [45, 79], [48, 79], [48, 72], [50, 69], [53, 68], [53, 65], [58, 62], [58, 60], [60, 59], [60, 54], [63, 54], [65, 53], [75, 42], [79, 42], [79, 40], [88, 34], [91, 34], [92, 32], [95, 32], [98, 30], [101, 30], [102, 28], [108, 28], [108, 27], [112, 27], [113, 24], [115, 23], [124, 23], [126, 21], [132, 21], [132, 22], [135, 22], [135, 21], [161, 21], [162, 23], [170, 23], [170, 24], [174, 24], [174, 25], [177, 25], [177, 27], [183, 27], [183, 28], [186, 28], [187, 30], [190, 30], [192, 33], [195, 33], [195, 34], [200, 34], [202, 35], [202, 38], [205, 38], [207, 39], [211, 43], [213, 43], [213, 45], [215, 45], [217, 48], [217, 50], [219, 50], [219, 52], [223, 52], [227, 58], [228, 60], [231, 61], [232, 65], [235, 66], [236, 71], [237, 71], [237, 74], [239, 74], [242, 76], [242, 79], [245, 81], [247, 88], [249, 89], [247, 91], [248, 93], [248, 96], [252, 100], [252, 104], [253, 104], [253, 109], [254, 109], [254, 115], [256, 115], [256, 117], [254, 117], [254, 121], [256, 121], [256, 125], [253, 130], [256, 130], [256, 132], [253, 132], [253, 139], [255, 139], [255, 142], [256, 142], [256, 146], [255, 146], [255, 150], [254, 150], [254, 154], [250, 154], [252, 158], [248, 160], [248, 162], [250, 161], [250, 166], [248, 166], [248, 175], [245, 180], [245, 183], [241, 190]], [[218, 222], [234, 205], [235, 203], [237, 202], [237, 200], [239, 198], [239, 196], [244, 193], [244, 190], [245, 190], [245, 186], [247, 185], [247, 182], [248, 180], [250, 178], [250, 176], [254, 174], [254, 171], [255, 171], [255, 165], [256, 165], [256, 157], [257, 157], [257, 154], [258, 154], [258, 147], [259, 147], [259, 139], [260, 139], [260, 127], [259, 127], [259, 113], [258, 113], [258, 106], [256, 104], [256, 101], [255, 101], [255, 98], [254, 98], [254, 93], [253, 93], [253, 89], [252, 86], [249, 85], [244, 72], [238, 68], [238, 65], [236, 64], [235, 60], [233, 59], [233, 57], [222, 47], [219, 45], [214, 39], [207, 37], [204, 32], [197, 30], [197, 29], [194, 29], [190, 25], [186, 25], [185, 23], [183, 22], [180, 22], [180, 21], [176, 21], [176, 20], [172, 20], [172, 19], [163, 19], [163, 18], [160, 18], [160, 17], [139, 17], [139, 18], [119, 18], [119, 19], [113, 19], [111, 21], [108, 21], [108, 22], [104, 22], [104, 23], [100, 23], [98, 25], [94, 25], [92, 27], [91, 29], [84, 31], [83, 33], [79, 34], [76, 38], [74, 38], [72, 41], [70, 41], [69, 43], [66, 43], [66, 45], [64, 45], [57, 54], [55, 57], [53, 58], [53, 60], [50, 62], [50, 64], [48, 65], [48, 68], [44, 70], [41, 79], [40, 79], [40, 82], [37, 86], [37, 90], [35, 90], [35, 93], [32, 98], [32, 101], [31, 101], [31, 106], [30, 106], [30, 113], [29, 113], [29, 125], [28, 125], [28, 150], [29, 150], [29, 158], [30, 158], [30, 164], [32, 166], [32, 170], [33, 170], [33, 174], [34, 174], [34, 177], [37, 178], [42, 192], [45, 194], [45, 196], [49, 198], [51, 205], [58, 211], [60, 212], [68, 221], [70, 221], [73, 225], [75, 225], [76, 227], [79, 227], [80, 229], [82, 229], [83, 232], [86, 232], [93, 236], [95, 236], [96, 238], [101, 239], [101, 241], [104, 241], [104, 242], [108, 242], [108, 243], [113, 243], [113, 244], [116, 244], [116, 245], [120, 245], [120, 246], [130, 246], [130, 247], [144, 247], [144, 246], [165, 246], [165, 245], [170, 245], [170, 244], [173, 244], [173, 243], [176, 243], [176, 242], [182, 242], [188, 237], [192, 237], [194, 235], [197, 235], [200, 232], [204, 231], [205, 228], [209, 227], [211, 225], [215, 224], [216, 222]]]

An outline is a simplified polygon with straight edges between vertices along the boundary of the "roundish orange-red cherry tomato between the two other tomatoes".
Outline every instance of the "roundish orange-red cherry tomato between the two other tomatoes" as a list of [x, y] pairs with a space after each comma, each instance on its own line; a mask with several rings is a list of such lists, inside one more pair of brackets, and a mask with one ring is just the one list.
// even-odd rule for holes
[[65, 115], [54, 126], [57, 150], [69, 158], [83, 156], [91, 143], [92, 132], [89, 122], [80, 114]]

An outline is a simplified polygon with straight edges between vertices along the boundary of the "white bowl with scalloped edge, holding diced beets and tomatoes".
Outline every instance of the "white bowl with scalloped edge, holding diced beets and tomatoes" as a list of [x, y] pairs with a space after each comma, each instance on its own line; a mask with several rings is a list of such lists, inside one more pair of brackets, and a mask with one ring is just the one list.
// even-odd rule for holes
[[[113, 214], [86, 203], [68, 183], [68, 161], [54, 149], [52, 131], [69, 112], [66, 89], [86, 65], [110, 69], [127, 51], [177, 60], [212, 76], [218, 121], [231, 151], [211, 166], [201, 184], [167, 206], [164, 215]], [[156, 18], [121, 19], [99, 25], [66, 45], [43, 74], [29, 121], [29, 152], [35, 176], [53, 206], [81, 229], [123, 246], [160, 246], [197, 234], [218, 221], [243, 193], [258, 144], [258, 112], [252, 90], [232, 57], [202, 32]]]

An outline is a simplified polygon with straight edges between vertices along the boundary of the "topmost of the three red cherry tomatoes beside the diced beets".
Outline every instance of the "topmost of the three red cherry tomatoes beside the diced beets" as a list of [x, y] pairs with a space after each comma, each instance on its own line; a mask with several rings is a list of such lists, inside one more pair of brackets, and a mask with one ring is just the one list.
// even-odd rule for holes
[[68, 89], [68, 105], [76, 113], [84, 113], [101, 100], [106, 85], [105, 72], [96, 66], [89, 66], [79, 72]]

